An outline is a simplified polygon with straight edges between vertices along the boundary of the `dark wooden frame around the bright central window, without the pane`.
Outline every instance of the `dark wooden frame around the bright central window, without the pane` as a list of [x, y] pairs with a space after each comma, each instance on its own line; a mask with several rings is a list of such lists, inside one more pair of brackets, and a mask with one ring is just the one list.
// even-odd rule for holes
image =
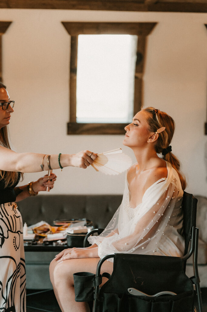
[[157, 23], [113, 23], [113, 22], [62, 22], [71, 36], [71, 59], [70, 59], [70, 121], [67, 124], [67, 134], [124, 134], [127, 124], [104, 124], [104, 123], [77, 123], [76, 122], [76, 72], [77, 72], [77, 49], [78, 35], [136, 35], [137, 60], [135, 69], [134, 86], [134, 115], [142, 105], [142, 76], [144, 72], [146, 37], [150, 34]]

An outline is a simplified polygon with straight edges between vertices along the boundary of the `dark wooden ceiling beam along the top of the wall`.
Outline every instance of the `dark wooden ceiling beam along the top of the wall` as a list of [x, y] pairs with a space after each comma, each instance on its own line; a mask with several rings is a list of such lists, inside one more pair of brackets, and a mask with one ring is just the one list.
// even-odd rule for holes
[[0, 8], [151, 12], [207, 12], [206, 0], [1, 0]]

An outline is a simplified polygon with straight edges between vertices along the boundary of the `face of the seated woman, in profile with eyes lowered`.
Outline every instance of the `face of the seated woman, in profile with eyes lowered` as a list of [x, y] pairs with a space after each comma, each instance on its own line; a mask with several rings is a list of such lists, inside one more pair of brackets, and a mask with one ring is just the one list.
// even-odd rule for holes
[[152, 134], [149, 131], [147, 117], [148, 113], [140, 110], [132, 119], [132, 123], [124, 128], [126, 130], [124, 145], [133, 148], [144, 147], [147, 144], [147, 140]]

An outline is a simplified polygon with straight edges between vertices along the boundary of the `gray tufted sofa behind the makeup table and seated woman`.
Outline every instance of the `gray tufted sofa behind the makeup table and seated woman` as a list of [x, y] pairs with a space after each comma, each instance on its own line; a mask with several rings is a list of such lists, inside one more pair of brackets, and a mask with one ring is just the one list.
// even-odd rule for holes
[[[198, 199], [196, 224], [199, 228], [198, 264], [201, 287], [207, 287], [207, 198]], [[122, 195], [38, 195], [18, 203], [27, 225], [41, 220], [87, 218], [94, 227], [105, 227], [122, 201]], [[49, 289], [49, 263], [57, 252], [26, 252], [27, 289]], [[186, 274], [193, 276], [189, 259]]]

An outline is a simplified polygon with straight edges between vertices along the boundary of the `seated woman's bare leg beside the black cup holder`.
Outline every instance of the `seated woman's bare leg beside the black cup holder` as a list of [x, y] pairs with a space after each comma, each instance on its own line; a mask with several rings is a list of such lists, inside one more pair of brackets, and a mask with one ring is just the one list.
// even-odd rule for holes
[[[62, 312], [88, 312], [89, 306], [85, 302], [76, 302], [74, 293], [73, 274], [76, 272], [96, 272], [100, 258], [69, 259], [61, 262], [53, 260], [50, 264], [50, 279]], [[112, 273], [113, 263], [105, 261], [101, 273]], [[107, 279], [103, 279], [103, 283]]]

